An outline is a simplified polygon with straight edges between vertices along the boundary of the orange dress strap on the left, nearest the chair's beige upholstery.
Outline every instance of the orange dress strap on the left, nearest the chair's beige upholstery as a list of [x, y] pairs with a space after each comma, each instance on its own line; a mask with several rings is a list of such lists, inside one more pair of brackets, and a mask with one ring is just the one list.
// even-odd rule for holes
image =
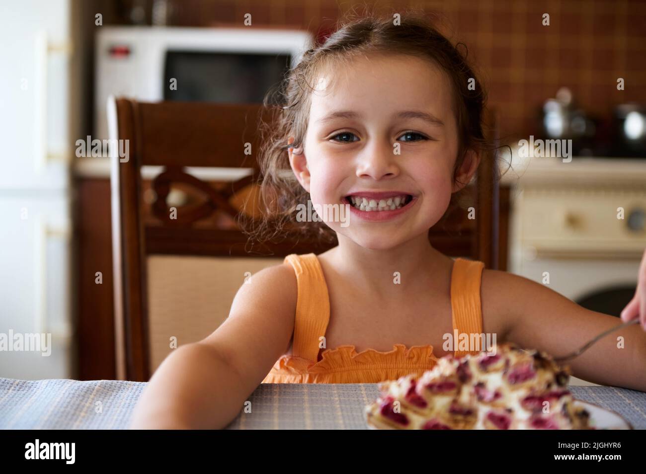
[[315, 254], [290, 254], [284, 262], [294, 268], [298, 286], [292, 355], [317, 362], [329, 323], [328, 285]]

